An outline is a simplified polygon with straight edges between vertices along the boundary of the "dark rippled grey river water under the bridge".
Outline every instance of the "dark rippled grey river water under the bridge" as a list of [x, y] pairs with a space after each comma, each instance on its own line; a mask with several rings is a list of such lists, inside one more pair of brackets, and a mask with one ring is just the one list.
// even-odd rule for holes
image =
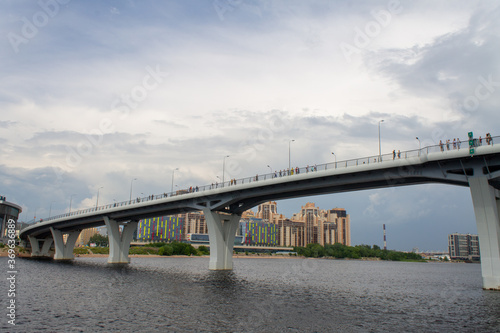
[[[17, 259], [1, 332], [500, 332], [478, 264], [235, 258]], [[7, 272], [7, 258], [0, 258]]]

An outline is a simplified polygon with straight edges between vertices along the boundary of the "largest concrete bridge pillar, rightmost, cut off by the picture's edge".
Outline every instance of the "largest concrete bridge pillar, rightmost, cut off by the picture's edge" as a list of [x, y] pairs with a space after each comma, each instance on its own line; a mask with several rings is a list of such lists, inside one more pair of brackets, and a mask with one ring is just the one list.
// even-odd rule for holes
[[500, 201], [486, 177], [469, 178], [481, 252], [483, 289], [500, 290]]

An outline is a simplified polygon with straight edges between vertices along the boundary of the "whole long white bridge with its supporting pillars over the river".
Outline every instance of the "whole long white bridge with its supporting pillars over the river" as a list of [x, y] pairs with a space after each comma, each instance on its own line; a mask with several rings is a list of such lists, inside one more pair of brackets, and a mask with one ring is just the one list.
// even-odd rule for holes
[[[243, 211], [270, 200], [393, 186], [441, 183], [470, 188], [481, 252], [483, 288], [500, 290], [500, 137], [488, 142], [436, 145], [286, 170], [281, 173], [195, 186], [120, 203], [82, 209], [21, 230], [32, 256], [73, 259], [81, 230], [105, 225], [109, 263], [128, 263], [128, 251], [140, 219], [203, 211], [210, 237], [209, 269], [232, 269], [234, 238]], [[64, 235], [66, 241], [64, 241]]]

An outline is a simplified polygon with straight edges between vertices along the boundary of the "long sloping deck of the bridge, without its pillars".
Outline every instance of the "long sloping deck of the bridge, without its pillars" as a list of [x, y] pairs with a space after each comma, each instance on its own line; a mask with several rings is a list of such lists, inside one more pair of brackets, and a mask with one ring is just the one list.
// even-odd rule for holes
[[[500, 137], [495, 137], [497, 141]], [[484, 164], [485, 170], [500, 170], [500, 144], [475, 148], [431, 146], [395, 155], [384, 154], [317, 166], [293, 169], [226, 181], [224, 184], [196, 186], [189, 190], [164, 193], [131, 201], [102, 205], [40, 220], [21, 231], [20, 237], [49, 235], [50, 226], [61, 230], [104, 225], [103, 216], [117, 221], [201, 210], [209, 202], [214, 210], [241, 212], [268, 200], [307, 195], [365, 190], [422, 183], [468, 186], [469, 164]], [[286, 173], [286, 175], [285, 175]], [[496, 177], [492, 177], [496, 178]], [[491, 185], [500, 188], [497, 180]]]

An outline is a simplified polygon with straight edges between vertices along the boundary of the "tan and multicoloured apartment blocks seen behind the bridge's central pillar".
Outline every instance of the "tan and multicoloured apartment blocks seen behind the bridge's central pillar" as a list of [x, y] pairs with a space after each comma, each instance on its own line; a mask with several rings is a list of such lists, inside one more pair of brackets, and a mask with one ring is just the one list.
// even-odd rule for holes
[[[257, 211], [244, 211], [239, 224], [236, 235], [247, 245], [351, 245], [350, 215], [343, 208], [320, 209], [308, 202], [293, 216], [286, 217], [278, 212], [275, 201], [268, 201], [259, 204]], [[189, 241], [191, 234], [208, 233], [203, 211], [193, 211], [142, 219], [136, 238], [141, 241]]]

